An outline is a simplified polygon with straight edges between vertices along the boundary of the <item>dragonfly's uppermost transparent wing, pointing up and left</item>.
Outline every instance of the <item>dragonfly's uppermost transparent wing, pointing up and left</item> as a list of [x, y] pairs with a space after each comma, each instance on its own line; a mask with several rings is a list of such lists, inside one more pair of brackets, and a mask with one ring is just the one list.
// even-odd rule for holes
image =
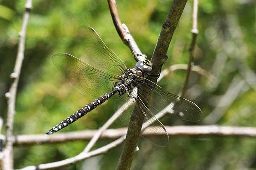
[[122, 75], [127, 69], [122, 60], [105, 45], [96, 31], [89, 26], [81, 26], [78, 36], [90, 65], [116, 75]]

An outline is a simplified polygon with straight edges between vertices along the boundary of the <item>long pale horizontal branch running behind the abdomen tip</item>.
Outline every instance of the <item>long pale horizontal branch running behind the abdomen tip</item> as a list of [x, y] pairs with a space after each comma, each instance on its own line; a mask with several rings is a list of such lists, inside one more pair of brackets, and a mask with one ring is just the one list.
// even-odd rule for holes
[[[226, 126], [165, 126], [169, 135], [215, 135], [215, 136], [238, 136], [256, 138], [256, 127], [226, 127]], [[127, 128], [108, 129], [105, 130], [99, 139], [109, 140], [116, 139], [127, 132]], [[76, 131], [76, 133], [58, 133], [51, 138], [45, 134], [38, 135], [17, 135], [15, 136], [14, 145], [38, 145], [38, 144], [54, 144], [69, 141], [87, 141], [93, 138], [97, 130]], [[143, 135], [160, 135], [146, 130]]]

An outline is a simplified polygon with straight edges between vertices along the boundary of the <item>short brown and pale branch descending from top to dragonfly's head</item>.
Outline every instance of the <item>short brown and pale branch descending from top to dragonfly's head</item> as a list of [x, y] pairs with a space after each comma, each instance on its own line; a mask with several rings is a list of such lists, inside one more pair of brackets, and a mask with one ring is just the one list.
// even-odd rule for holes
[[123, 24], [121, 23], [121, 20], [119, 18], [117, 8], [116, 8], [116, 0], [108, 0], [108, 6], [109, 6], [111, 17], [116, 27], [116, 31], [118, 35], [122, 39], [123, 43], [125, 43], [125, 45], [129, 47], [135, 60], [148, 61], [147, 56], [140, 51], [140, 48], [137, 46], [137, 43], [135, 42], [134, 38], [131, 36], [128, 30], [128, 27], [124, 23]]

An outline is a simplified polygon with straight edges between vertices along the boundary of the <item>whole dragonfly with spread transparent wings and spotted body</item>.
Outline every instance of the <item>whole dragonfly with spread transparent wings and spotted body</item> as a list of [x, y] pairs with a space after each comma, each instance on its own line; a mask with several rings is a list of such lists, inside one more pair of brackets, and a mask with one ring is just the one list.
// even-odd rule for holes
[[[78, 37], [90, 64], [67, 53], [53, 55], [52, 62], [76, 88], [96, 99], [56, 124], [47, 135], [67, 127], [114, 95], [117, 96], [115, 110], [124, 108], [119, 115], [121, 121], [129, 128], [131, 113], [136, 110], [144, 118], [143, 125], [148, 125], [139, 135], [160, 147], [168, 144], [169, 135], [156, 118], [157, 113], [170, 112], [186, 121], [202, 119], [202, 111], [195, 103], [167, 92], [145, 78], [152, 72], [151, 63], [147, 60], [138, 61], [136, 67], [128, 69], [93, 28], [79, 27]], [[145, 97], [145, 92], [150, 93], [150, 99]], [[149, 131], [158, 134], [156, 141], [145, 135]]]

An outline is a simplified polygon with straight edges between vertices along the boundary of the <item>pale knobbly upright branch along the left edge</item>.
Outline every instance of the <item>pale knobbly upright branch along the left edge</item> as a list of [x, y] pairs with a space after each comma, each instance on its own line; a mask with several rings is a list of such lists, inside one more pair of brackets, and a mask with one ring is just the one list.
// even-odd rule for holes
[[2, 169], [10, 170], [13, 169], [13, 141], [12, 141], [12, 131], [13, 131], [13, 122], [15, 116], [15, 103], [16, 103], [16, 94], [17, 86], [20, 77], [20, 70], [24, 58], [25, 50], [25, 37], [26, 37], [26, 28], [29, 20], [29, 12], [32, 9], [32, 0], [27, 0], [25, 4], [26, 11], [23, 15], [23, 22], [20, 30], [20, 40], [17, 51], [17, 58], [15, 62], [14, 71], [11, 73], [10, 78], [13, 79], [12, 85], [9, 89], [9, 92], [6, 93], [7, 98], [7, 120], [6, 120], [6, 147], [3, 151], [3, 160], [2, 160]]

